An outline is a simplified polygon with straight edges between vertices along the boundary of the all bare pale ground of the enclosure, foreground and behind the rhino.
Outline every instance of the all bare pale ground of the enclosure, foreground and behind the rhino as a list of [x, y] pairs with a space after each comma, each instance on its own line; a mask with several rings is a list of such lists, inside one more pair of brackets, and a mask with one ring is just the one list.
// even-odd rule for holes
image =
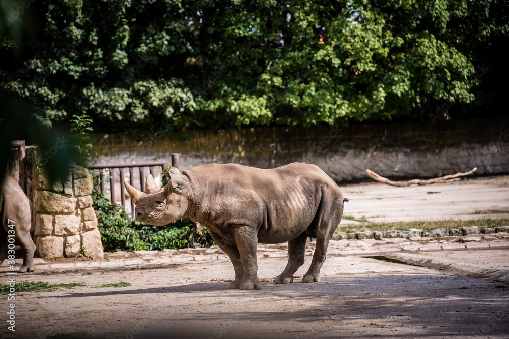
[[[410, 188], [351, 185], [343, 189], [351, 199], [345, 214], [387, 221], [507, 217], [507, 181], [497, 177]], [[103, 262], [74, 264], [39, 259], [37, 271], [16, 275], [16, 283], [86, 286], [16, 292], [15, 332], [7, 330], [10, 301], [2, 295], [5, 327], [0, 337], [507, 338], [509, 234], [463, 241], [331, 241], [322, 281], [312, 284], [300, 279], [313, 243], [291, 284], [272, 283], [286, 265], [286, 244], [260, 245], [263, 289], [256, 291], [227, 289], [233, 267], [218, 249], [116, 253]], [[379, 260], [382, 256], [420, 266]], [[5, 263], [1, 268], [6, 284]], [[131, 286], [98, 287], [120, 281]]]

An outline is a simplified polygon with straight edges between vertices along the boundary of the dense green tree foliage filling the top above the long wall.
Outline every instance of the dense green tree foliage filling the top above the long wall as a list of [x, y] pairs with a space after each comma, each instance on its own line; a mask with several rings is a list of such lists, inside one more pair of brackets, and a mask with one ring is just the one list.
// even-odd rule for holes
[[485, 116], [507, 90], [504, 0], [27, 3], [0, 9], [0, 88], [46, 122], [306, 126], [428, 119], [446, 100]]

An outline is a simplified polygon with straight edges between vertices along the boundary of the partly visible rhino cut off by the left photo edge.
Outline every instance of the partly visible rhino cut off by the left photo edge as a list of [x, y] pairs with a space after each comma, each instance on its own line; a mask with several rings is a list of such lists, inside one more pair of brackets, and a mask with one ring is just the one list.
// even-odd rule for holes
[[[8, 234], [14, 233], [14, 239], [23, 252], [23, 266], [19, 271], [34, 271], [36, 248], [30, 236], [29, 198], [26, 197], [18, 182], [11, 177], [4, 180], [2, 192], [0, 192], [0, 206], [2, 206], [0, 217], [3, 225], [0, 230], [0, 264], [8, 255], [14, 254], [14, 250], [9, 250], [7, 247]], [[14, 231], [9, 227], [9, 219], [14, 221]]]

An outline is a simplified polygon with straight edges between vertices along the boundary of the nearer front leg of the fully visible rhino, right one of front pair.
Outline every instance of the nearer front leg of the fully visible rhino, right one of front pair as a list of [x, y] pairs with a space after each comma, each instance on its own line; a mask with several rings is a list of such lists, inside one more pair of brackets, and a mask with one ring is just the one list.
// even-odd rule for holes
[[254, 228], [247, 225], [232, 226], [232, 235], [240, 253], [240, 260], [244, 267], [244, 279], [239, 285], [241, 290], [260, 290], [262, 284], [258, 279], [258, 263], [256, 248], [258, 236]]

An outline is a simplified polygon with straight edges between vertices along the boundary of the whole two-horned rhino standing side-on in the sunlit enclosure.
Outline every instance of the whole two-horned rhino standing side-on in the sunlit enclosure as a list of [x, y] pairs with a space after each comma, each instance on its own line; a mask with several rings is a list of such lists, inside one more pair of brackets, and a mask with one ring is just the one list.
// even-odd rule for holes
[[164, 189], [149, 175], [147, 193], [126, 182], [136, 204], [136, 220], [161, 226], [187, 217], [206, 226], [233, 263], [235, 280], [229, 288], [262, 288], [257, 276], [258, 242], [288, 241], [287, 266], [274, 282], [291, 283], [304, 263], [308, 236], [316, 236], [316, 250], [302, 281], [320, 281], [344, 201], [340, 188], [320, 168], [301, 163], [274, 169], [208, 164], [182, 173], [171, 168], [166, 175], [170, 182]]

